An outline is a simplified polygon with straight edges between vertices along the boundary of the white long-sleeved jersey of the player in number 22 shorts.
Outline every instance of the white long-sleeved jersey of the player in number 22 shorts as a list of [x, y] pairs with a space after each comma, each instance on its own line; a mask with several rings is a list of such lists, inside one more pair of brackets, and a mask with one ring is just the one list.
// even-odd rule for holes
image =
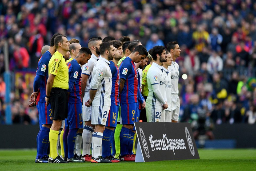
[[[165, 76], [163, 74], [162, 66], [153, 62], [151, 67], [147, 72], [147, 85], [149, 89], [149, 95], [146, 99], [146, 107], [154, 108], [154, 109], [162, 109], [163, 103], [159, 101], [159, 99], [155, 96], [153, 92], [152, 85], [158, 84], [159, 91], [161, 94], [157, 94], [157, 96], [165, 99]], [[166, 99], [165, 99], [166, 100]]]

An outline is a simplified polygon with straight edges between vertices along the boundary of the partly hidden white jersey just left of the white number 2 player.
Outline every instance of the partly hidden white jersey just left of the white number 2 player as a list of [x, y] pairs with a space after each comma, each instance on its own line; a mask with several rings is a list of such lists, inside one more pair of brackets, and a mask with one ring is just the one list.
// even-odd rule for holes
[[86, 87], [85, 87], [85, 91], [89, 91], [90, 90], [90, 84], [91, 84], [91, 74], [93, 73], [93, 67], [95, 65], [95, 63], [99, 60], [99, 58], [97, 56], [95, 56], [94, 54], [91, 55], [91, 58], [88, 60], [87, 64], [84, 64], [82, 66], [82, 74], [85, 74], [88, 77], [87, 82], [86, 82]]

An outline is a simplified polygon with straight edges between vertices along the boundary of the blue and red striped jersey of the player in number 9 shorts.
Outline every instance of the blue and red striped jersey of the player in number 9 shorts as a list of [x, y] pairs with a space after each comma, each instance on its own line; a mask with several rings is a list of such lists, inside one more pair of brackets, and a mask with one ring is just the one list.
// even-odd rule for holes
[[120, 95], [120, 103], [137, 103], [138, 102], [138, 70], [131, 58], [126, 57], [121, 63], [120, 79], [125, 79], [125, 84]]

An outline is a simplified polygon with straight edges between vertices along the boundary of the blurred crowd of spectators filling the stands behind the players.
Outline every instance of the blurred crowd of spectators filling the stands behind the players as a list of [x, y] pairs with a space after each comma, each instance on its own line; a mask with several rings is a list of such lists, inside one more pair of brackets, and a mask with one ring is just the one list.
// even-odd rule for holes
[[41, 48], [56, 32], [78, 39], [82, 47], [92, 36], [129, 36], [148, 50], [177, 41], [179, 121], [191, 122], [194, 130], [200, 122], [207, 130], [214, 124], [254, 124], [255, 11], [253, 0], [2, 0], [0, 124], [6, 123], [4, 43], [9, 48], [12, 122], [37, 124], [37, 109], [27, 107], [28, 101]]

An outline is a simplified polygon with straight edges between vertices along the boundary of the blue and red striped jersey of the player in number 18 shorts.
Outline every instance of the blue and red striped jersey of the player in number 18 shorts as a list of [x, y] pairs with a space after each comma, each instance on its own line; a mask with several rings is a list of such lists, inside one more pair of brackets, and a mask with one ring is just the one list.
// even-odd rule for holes
[[111, 90], [111, 105], [119, 105], [119, 68], [114, 64], [114, 62], [110, 62], [110, 70], [112, 74], [112, 90]]

